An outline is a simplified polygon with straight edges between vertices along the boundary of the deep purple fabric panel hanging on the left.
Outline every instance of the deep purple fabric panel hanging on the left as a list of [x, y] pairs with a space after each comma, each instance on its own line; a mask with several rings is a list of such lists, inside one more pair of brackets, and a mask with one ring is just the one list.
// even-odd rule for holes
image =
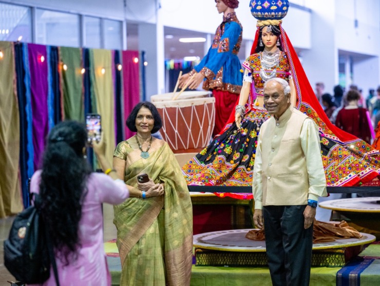
[[[45, 147], [45, 138], [49, 131], [48, 122], [48, 68], [46, 46], [28, 44], [30, 91], [32, 106], [32, 134], [34, 149], [34, 169], [40, 166], [41, 156]], [[42, 56], [44, 61], [42, 61]]]

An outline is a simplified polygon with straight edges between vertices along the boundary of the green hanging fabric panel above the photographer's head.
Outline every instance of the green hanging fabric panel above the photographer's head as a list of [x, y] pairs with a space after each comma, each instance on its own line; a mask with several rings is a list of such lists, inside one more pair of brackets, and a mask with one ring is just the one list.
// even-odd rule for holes
[[[82, 49], [60, 47], [65, 119], [84, 121]], [[84, 72], [86, 70], [84, 69]]]

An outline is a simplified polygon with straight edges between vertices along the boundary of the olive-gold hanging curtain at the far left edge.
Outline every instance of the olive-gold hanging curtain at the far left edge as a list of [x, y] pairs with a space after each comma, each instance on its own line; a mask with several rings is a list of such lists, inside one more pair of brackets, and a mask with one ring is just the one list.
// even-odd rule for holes
[[[16, 94], [13, 43], [0, 42], [0, 218], [21, 212], [21, 184], [18, 179], [20, 159], [20, 115]], [[6, 171], [5, 171], [6, 169]]]

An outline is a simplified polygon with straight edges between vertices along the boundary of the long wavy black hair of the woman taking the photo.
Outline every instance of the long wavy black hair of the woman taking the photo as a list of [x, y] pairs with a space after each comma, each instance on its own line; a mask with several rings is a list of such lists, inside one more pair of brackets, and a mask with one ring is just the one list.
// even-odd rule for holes
[[75, 121], [57, 124], [50, 131], [40, 183], [42, 215], [54, 249], [66, 265], [77, 259], [79, 221], [86, 179], [91, 173], [83, 158], [87, 132]]

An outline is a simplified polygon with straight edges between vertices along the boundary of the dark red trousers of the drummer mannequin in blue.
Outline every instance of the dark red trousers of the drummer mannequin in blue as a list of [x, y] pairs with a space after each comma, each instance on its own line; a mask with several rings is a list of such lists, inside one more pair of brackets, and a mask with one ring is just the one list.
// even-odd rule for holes
[[215, 98], [214, 137], [220, 133], [230, 118], [231, 112], [234, 111], [236, 101], [239, 98], [239, 94], [213, 89], [213, 96]]

